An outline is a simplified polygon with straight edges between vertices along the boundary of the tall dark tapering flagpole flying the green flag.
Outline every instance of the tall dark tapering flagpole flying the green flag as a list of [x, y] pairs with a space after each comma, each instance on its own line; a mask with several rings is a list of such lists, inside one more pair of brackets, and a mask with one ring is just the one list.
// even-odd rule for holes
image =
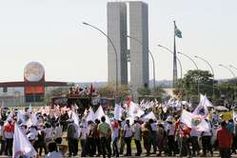
[[176, 59], [176, 24], [174, 21], [174, 52], [173, 52], [173, 88], [176, 88], [177, 84], [177, 59]]

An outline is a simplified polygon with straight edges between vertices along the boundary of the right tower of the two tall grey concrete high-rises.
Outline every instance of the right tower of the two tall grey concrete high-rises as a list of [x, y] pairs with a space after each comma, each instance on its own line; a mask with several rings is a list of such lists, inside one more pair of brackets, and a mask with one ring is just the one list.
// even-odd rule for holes
[[133, 90], [148, 86], [148, 5], [143, 2], [129, 3], [130, 36], [139, 40], [142, 45], [130, 40], [131, 85]]

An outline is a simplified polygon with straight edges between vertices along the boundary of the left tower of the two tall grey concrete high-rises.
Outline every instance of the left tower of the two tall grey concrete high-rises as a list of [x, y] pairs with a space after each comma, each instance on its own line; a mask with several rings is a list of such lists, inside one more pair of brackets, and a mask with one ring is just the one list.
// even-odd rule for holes
[[[107, 30], [108, 36], [117, 51], [118, 84], [128, 83], [127, 70], [127, 6], [126, 3], [107, 3]], [[116, 82], [116, 54], [108, 41], [108, 81]]]

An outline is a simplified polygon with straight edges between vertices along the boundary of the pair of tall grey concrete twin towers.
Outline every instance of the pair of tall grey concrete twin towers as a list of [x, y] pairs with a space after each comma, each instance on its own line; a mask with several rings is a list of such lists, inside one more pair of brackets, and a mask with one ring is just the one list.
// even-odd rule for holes
[[[108, 81], [133, 90], [148, 86], [148, 5], [140, 1], [107, 3]], [[115, 50], [115, 49], [116, 50]], [[116, 51], [116, 52], [115, 52]], [[129, 65], [130, 64], [130, 65]]]

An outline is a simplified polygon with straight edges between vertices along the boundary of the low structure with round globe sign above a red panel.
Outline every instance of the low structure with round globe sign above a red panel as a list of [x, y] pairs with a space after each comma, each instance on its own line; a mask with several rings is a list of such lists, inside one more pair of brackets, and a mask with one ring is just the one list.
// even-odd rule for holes
[[0, 105], [40, 103], [52, 87], [67, 86], [67, 82], [45, 81], [44, 67], [30, 62], [24, 69], [24, 81], [0, 82]]

